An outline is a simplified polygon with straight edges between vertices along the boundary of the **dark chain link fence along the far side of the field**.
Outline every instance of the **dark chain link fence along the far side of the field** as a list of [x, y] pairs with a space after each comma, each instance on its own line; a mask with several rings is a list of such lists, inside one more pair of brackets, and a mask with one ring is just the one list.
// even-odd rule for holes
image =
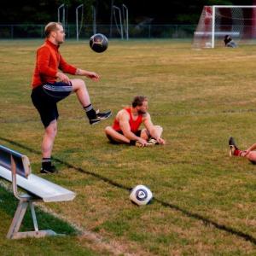
[[[0, 25], [0, 39], [44, 38], [45, 25]], [[129, 38], [193, 38], [196, 25], [129, 25]], [[77, 38], [75, 24], [65, 26], [66, 38]], [[96, 32], [121, 38], [117, 26], [97, 25]], [[93, 26], [82, 26], [79, 38], [90, 38]], [[123, 32], [126, 38], [125, 30]]]

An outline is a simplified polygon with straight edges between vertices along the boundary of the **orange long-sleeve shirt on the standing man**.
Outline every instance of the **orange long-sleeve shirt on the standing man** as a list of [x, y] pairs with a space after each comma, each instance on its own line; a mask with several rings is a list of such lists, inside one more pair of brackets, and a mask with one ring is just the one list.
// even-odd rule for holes
[[49, 40], [37, 50], [37, 62], [32, 77], [32, 88], [45, 83], [54, 83], [56, 73], [60, 69], [63, 73], [75, 74], [77, 68], [67, 64], [59, 52], [59, 46]]

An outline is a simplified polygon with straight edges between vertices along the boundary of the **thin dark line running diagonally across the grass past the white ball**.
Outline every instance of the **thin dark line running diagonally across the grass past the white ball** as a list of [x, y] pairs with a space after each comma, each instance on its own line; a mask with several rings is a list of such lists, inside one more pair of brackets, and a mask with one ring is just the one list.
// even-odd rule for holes
[[[0, 137], [1, 140], [3, 140], [4, 142], [7, 142], [7, 143], [10, 143], [10, 144], [13, 144], [15, 146], [18, 146], [20, 148], [23, 148], [23, 149], [26, 149], [27, 151], [33, 153], [33, 154], [41, 154], [41, 152], [33, 149], [33, 148], [28, 148], [26, 147], [25, 145], [22, 145], [20, 143], [15, 143], [14, 141], [11, 141], [7, 138], [4, 138], [4, 137]], [[120, 183], [116, 183], [114, 182], [113, 180], [109, 179], [108, 177], [103, 177], [102, 175], [99, 175], [99, 174], [96, 174], [94, 172], [90, 172], [90, 171], [86, 171], [80, 167], [77, 167], [77, 166], [73, 166], [71, 164], [69, 164], [68, 162], [64, 161], [64, 160], [59, 160], [59, 159], [56, 159], [56, 158], [53, 158], [56, 162], [59, 162], [60, 164], [64, 165], [64, 166], [67, 166], [68, 168], [73, 168], [74, 170], [78, 171], [78, 172], [83, 172], [83, 173], [86, 173], [90, 176], [93, 176], [93, 177], [96, 177], [106, 183], [109, 183], [119, 189], [125, 189], [125, 190], [128, 190], [130, 191], [131, 188], [123, 185], [123, 184], [120, 184]], [[172, 208], [173, 210], [176, 210], [178, 212], [182, 212], [184, 215], [188, 216], [189, 218], [195, 218], [197, 220], [200, 220], [203, 222], [203, 224], [205, 225], [212, 225], [214, 226], [215, 228], [217, 228], [218, 230], [223, 230], [231, 235], [235, 235], [235, 236], [238, 236], [238, 237], [241, 237], [242, 239], [246, 240], [246, 241], [250, 241], [252, 242], [254, 245], [256, 245], [256, 238], [245, 233], [245, 232], [242, 232], [240, 230], [236, 230], [236, 229], [233, 229], [229, 226], [226, 226], [224, 224], [218, 224], [217, 222], [213, 221], [212, 219], [210, 218], [206, 218], [200, 214], [197, 214], [195, 212], [189, 212], [188, 210], [186, 209], [183, 209], [181, 207], [178, 207], [177, 205], [173, 205], [171, 203], [168, 203], [168, 202], [165, 202], [165, 201], [161, 201], [157, 198], [154, 197], [154, 201], [160, 203], [160, 205], [162, 205], [163, 207], [169, 207], [169, 208]], [[0, 210], [1, 210], [1, 205], [0, 205]]]

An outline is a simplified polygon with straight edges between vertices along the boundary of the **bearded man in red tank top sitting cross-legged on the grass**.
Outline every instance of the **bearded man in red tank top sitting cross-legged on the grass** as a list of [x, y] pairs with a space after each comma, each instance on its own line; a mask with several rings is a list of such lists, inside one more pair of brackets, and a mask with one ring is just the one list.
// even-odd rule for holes
[[[145, 128], [139, 130], [142, 123]], [[121, 109], [113, 121], [113, 126], [105, 128], [111, 143], [126, 143], [137, 147], [165, 144], [165, 140], [161, 138], [162, 132], [163, 128], [153, 125], [151, 121], [146, 96], [135, 96], [132, 107]]]

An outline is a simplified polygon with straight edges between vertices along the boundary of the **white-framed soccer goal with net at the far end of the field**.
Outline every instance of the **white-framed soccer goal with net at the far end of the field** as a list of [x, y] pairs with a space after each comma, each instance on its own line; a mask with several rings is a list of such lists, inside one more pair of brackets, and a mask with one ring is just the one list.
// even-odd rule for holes
[[205, 6], [194, 33], [194, 48], [224, 46], [229, 35], [239, 44], [256, 43], [256, 5]]

